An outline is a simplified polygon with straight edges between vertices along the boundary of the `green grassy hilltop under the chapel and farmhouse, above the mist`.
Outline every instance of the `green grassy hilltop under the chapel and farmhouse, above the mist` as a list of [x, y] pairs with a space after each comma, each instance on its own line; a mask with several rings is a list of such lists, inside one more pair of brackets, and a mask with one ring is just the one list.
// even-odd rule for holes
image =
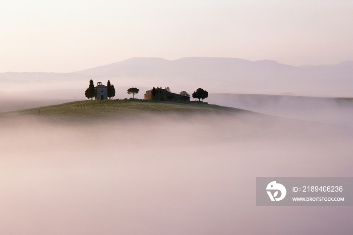
[[236, 113], [245, 111], [203, 102], [168, 102], [150, 100], [103, 100], [103, 101], [75, 101], [58, 105], [23, 109], [0, 113], [1, 119], [16, 119], [18, 117], [35, 118], [52, 122], [91, 122], [102, 119], [119, 119], [142, 117], [156, 113]]

